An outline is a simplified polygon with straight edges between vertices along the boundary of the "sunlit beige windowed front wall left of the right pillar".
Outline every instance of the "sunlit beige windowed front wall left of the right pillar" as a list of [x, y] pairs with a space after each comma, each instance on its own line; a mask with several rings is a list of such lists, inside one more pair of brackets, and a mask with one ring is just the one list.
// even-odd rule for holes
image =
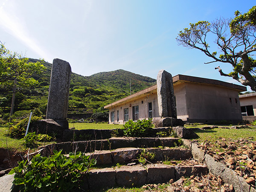
[[[143, 101], [143, 103], [142, 103]], [[148, 93], [131, 102], [124, 103], [122, 105], [118, 105], [116, 107], [109, 109], [109, 123], [113, 124], [124, 124], [124, 109], [128, 108], [129, 119], [132, 119], [132, 107], [139, 106], [139, 119], [148, 119], [148, 103], [152, 103], [152, 116], [153, 122], [160, 119], [159, 111], [158, 111], [158, 102], [157, 102], [157, 94], [156, 93]], [[131, 105], [131, 106], [130, 106]], [[115, 112], [114, 121], [111, 122], [111, 112]], [[117, 111], [119, 111], [119, 121], [117, 121]]]

